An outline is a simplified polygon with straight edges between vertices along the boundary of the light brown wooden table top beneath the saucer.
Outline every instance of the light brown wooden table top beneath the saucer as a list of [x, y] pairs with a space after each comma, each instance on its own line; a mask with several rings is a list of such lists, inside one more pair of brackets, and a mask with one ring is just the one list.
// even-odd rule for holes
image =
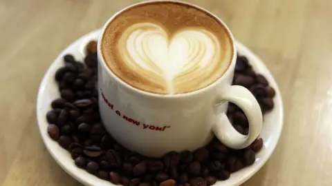
[[[0, 185], [80, 185], [50, 157], [36, 123], [53, 59], [135, 0], [0, 0]], [[332, 1], [192, 0], [261, 57], [282, 91], [282, 137], [246, 186], [332, 184]]]

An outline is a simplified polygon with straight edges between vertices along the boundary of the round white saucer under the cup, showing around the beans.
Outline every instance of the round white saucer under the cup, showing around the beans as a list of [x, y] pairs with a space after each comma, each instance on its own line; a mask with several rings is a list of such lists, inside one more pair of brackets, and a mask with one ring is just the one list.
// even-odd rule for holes
[[[53, 156], [55, 161], [66, 171], [68, 174], [73, 176], [76, 180], [84, 185], [89, 186], [111, 186], [112, 183], [101, 180], [92, 174], [89, 174], [84, 169], [79, 169], [75, 166], [71, 154], [68, 153], [65, 149], [60, 147], [56, 141], [53, 141], [47, 133], [48, 123], [46, 121], [46, 112], [50, 110], [50, 103], [57, 97], [59, 97], [59, 92], [57, 89], [57, 84], [55, 83], [54, 75], [58, 68], [64, 65], [62, 57], [64, 54], [73, 54], [75, 59], [82, 61], [85, 55], [85, 46], [91, 41], [97, 41], [100, 30], [95, 30], [89, 34], [84, 35], [74, 43], [68, 46], [61, 54], [53, 61], [50, 68], [48, 68], [44, 79], [39, 87], [38, 98], [37, 98], [37, 121], [39, 126], [40, 134], [42, 134], [43, 141], [50, 152], [50, 155]], [[219, 181], [216, 185], [241, 185], [246, 180], [248, 180], [253, 174], [255, 174], [263, 165], [266, 163], [268, 158], [270, 158], [277, 142], [279, 136], [282, 132], [282, 125], [284, 121], [284, 109], [282, 105], [282, 98], [280, 96], [279, 88], [275, 79], [270, 74], [264, 63], [253, 54], [248, 48], [246, 48], [241, 43], [236, 43], [238, 52], [241, 55], [247, 56], [248, 60], [252, 64], [256, 72], [264, 74], [266, 79], [270, 82], [270, 85], [275, 88], [275, 108], [272, 112], [264, 116], [264, 126], [261, 130], [261, 138], [264, 139], [264, 147], [257, 154], [256, 162], [250, 167], [241, 169], [239, 172], [236, 172], [230, 176], [228, 180]]]

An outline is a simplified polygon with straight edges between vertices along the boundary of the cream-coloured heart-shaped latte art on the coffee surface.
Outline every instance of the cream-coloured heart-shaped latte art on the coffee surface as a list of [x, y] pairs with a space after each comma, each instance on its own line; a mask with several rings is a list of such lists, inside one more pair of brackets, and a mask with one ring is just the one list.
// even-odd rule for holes
[[205, 83], [222, 62], [218, 38], [203, 28], [175, 33], [155, 23], [136, 23], [124, 30], [118, 51], [128, 68], [173, 94], [188, 82]]

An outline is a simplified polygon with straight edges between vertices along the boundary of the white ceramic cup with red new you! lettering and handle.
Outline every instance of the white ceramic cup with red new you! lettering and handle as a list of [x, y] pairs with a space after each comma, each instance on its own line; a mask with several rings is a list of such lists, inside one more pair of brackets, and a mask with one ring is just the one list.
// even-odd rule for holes
[[[151, 1], [142, 3], [149, 2]], [[102, 33], [113, 18], [124, 10], [107, 21]], [[230, 33], [234, 51], [232, 61], [228, 70], [217, 81], [201, 90], [185, 94], [152, 94], [131, 87], [119, 79], [109, 70], [102, 57], [102, 35], [100, 36], [100, 114], [104, 127], [118, 143], [145, 156], [158, 157], [171, 151], [182, 152], [202, 147], [210, 142], [213, 133], [221, 143], [234, 149], [248, 147], [255, 141], [262, 126], [261, 109], [249, 90], [239, 85], [231, 85], [237, 50], [227, 25], [219, 18], [216, 19]], [[237, 132], [225, 115], [228, 101], [241, 107], [246, 114], [249, 123], [248, 136]]]

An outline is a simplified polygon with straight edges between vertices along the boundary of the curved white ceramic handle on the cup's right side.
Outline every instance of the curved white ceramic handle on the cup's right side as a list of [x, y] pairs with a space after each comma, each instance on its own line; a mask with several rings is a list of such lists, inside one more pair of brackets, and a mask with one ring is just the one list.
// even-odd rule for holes
[[248, 89], [239, 85], [232, 85], [225, 88], [216, 99], [217, 104], [225, 101], [234, 103], [246, 114], [249, 123], [248, 136], [240, 134], [232, 127], [225, 112], [217, 113], [216, 123], [212, 127], [212, 130], [221, 143], [232, 149], [248, 147], [261, 132], [263, 123], [261, 108], [255, 96]]

